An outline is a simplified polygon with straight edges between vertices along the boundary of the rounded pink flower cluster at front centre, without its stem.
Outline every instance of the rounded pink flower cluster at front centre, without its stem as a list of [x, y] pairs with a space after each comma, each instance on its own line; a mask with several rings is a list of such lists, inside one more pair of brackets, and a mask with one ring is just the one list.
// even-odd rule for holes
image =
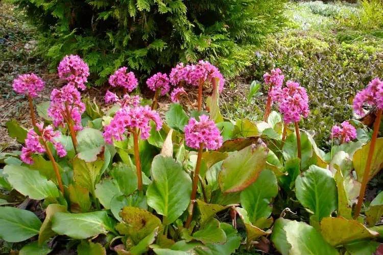
[[201, 115], [200, 121], [190, 118], [184, 131], [186, 145], [189, 147], [199, 149], [202, 143], [204, 148], [215, 150], [222, 146], [223, 139], [216, 123], [206, 115]]

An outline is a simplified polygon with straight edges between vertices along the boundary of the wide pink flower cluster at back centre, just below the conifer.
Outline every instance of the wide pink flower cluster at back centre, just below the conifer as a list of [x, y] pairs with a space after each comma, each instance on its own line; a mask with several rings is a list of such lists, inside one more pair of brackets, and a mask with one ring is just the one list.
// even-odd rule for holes
[[186, 65], [179, 63], [169, 74], [170, 82], [173, 85], [184, 81], [186, 84], [198, 86], [200, 81], [211, 82], [213, 78], [218, 78], [219, 90], [222, 92], [225, 79], [220, 70], [207, 61], [200, 60], [198, 64]]

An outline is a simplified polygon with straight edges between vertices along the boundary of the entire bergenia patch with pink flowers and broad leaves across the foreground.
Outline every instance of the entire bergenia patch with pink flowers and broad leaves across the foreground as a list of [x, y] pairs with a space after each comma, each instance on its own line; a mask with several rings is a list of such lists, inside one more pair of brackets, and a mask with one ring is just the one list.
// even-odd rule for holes
[[[383, 196], [365, 199], [383, 164], [379, 78], [353, 99], [357, 116], [376, 112], [372, 135], [344, 121], [332, 127], [326, 153], [300, 126], [313, 110], [306, 89], [280, 69], [263, 75], [267, 110], [256, 121], [221, 115], [225, 79], [207, 61], [153, 75], [153, 99], [140, 98], [134, 72], [116, 68], [106, 111], [82, 98], [87, 70], [79, 56], [66, 56], [58, 66], [64, 86], [37, 105], [38, 118], [30, 104], [33, 128], [7, 123], [22, 148], [1, 154], [0, 238], [21, 242], [20, 254], [381, 249]], [[43, 85], [35, 74], [13, 82], [31, 101]], [[169, 94], [161, 114], [155, 102]]]

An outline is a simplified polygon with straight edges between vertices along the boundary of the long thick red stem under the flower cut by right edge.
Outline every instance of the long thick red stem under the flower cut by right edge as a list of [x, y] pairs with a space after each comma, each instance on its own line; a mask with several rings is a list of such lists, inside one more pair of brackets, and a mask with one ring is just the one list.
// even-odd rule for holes
[[367, 183], [369, 181], [369, 175], [371, 171], [371, 161], [375, 151], [376, 138], [378, 137], [379, 127], [380, 127], [381, 113], [382, 113], [382, 110], [378, 110], [376, 114], [376, 119], [374, 122], [374, 131], [372, 133], [370, 149], [368, 150], [367, 162], [366, 162], [365, 172], [363, 174], [361, 190], [359, 192], [358, 201], [355, 207], [354, 219], [356, 219], [361, 213], [363, 198], [365, 196]]

